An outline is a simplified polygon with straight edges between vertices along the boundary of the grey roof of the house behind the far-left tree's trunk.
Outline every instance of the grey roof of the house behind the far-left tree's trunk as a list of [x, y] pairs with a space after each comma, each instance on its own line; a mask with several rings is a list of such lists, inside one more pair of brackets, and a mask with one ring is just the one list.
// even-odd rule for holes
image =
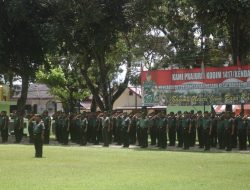
[[[21, 96], [21, 89], [21, 85], [14, 86], [13, 99]], [[54, 96], [50, 94], [50, 89], [45, 84], [30, 84], [27, 99], [54, 99]]]

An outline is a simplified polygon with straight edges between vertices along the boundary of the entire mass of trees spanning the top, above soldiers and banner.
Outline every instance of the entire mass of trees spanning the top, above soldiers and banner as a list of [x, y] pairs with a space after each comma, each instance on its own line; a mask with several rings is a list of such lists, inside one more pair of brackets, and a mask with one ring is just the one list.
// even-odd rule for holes
[[72, 100], [68, 110], [89, 94], [93, 105], [111, 110], [138, 81], [138, 63], [148, 69], [248, 64], [250, 2], [226, 2], [0, 0], [0, 74], [22, 78], [20, 110], [36, 80], [65, 105]]

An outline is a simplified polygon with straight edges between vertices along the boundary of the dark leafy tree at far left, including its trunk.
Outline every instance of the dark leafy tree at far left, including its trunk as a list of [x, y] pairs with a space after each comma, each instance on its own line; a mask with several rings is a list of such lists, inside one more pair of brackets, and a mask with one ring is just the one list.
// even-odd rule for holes
[[35, 71], [46, 63], [46, 53], [51, 44], [49, 7], [45, 1], [9, 0], [0, 1], [0, 68], [22, 79], [18, 112], [23, 112], [29, 82]]

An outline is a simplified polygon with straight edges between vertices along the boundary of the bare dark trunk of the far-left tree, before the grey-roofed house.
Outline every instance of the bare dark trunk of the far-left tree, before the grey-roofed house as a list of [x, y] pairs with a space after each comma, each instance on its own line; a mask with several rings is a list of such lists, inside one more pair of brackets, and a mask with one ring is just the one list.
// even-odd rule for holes
[[21, 96], [17, 100], [17, 112], [24, 114], [25, 113], [25, 105], [28, 96], [28, 89], [29, 89], [29, 77], [22, 76], [22, 91]]

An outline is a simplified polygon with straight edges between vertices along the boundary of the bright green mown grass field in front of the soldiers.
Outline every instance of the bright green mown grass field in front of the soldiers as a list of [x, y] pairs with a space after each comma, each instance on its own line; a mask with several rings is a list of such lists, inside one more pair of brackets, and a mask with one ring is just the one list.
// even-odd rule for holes
[[250, 154], [0, 145], [1, 190], [249, 190]]

